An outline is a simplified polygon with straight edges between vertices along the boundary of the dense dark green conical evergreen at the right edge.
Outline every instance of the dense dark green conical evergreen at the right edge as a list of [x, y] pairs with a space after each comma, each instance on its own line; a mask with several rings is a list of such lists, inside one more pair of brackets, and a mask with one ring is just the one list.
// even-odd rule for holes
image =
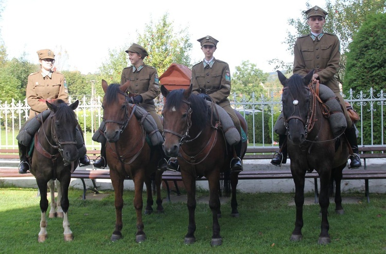
[[[347, 64], [345, 83], [343, 91], [350, 88], [355, 91], [367, 90], [369, 86], [379, 93], [386, 90], [386, 15], [383, 13], [370, 14], [362, 24], [358, 33], [353, 37], [347, 53]], [[365, 52], [365, 53], [363, 53]], [[384, 104], [383, 104], [384, 105]], [[355, 105], [354, 105], [355, 106]], [[370, 105], [365, 105], [369, 107]], [[372, 114], [364, 114], [363, 127], [372, 126], [373, 130], [364, 129], [363, 137], [365, 144], [381, 144], [381, 136], [374, 136], [372, 132], [381, 133], [381, 119], [384, 119], [379, 105], [373, 105]], [[373, 123], [372, 123], [373, 122]], [[360, 124], [360, 123], [359, 123]], [[359, 125], [358, 124], [358, 125]]]

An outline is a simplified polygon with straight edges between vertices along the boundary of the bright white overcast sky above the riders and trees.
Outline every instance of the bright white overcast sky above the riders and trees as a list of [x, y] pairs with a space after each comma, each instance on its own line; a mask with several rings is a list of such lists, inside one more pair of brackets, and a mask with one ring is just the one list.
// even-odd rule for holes
[[[8, 58], [24, 53], [38, 63], [36, 51], [62, 50], [68, 54], [68, 70], [95, 73], [108, 59], [109, 50], [136, 43], [145, 25], [168, 14], [174, 31], [187, 28], [192, 43], [192, 63], [203, 59], [198, 38], [213, 36], [219, 43], [214, 56], [229, 64], [231, 73], [242, 61], [272, 72], [268, 61], [292, 62], [283, 42], [289, 18], [301, 18], [306, 3], [325, 7], [325, 0], [2, 0], [1, 38]], [[56, 53], [56, 52], [55, 52]], [[128, 63], [129, 64], [129, 63]]]

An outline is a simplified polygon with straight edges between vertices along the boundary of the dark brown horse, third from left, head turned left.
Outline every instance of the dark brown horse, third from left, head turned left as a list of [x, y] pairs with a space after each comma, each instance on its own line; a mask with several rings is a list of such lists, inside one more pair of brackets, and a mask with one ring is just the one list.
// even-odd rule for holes
[[[213, 216], [213, 236], [211, 245], [221, 245], [220, 225], [220, 173], [230, 171], [230, 162], [233, 154], [227, 147], [220, 128], [214, 128], [211, 112], [206, 101], [196, 94], [192, 94], [192, 86], [186, 90], [174, 90], [169, 92], [164, 86], [162, 94], [166, 97], [166, 103], [162, 114], [164, 116], [164, 151], [167, 156], [177, 157], [181, 168], [182, 181], [187, 190], [187, 206], [189, 211], [188, 233], [185, 243], [196, 241], [196, 179], [205, 177], [209, 184], [209, 207]], [[247, 133], [247, 123], [238, 114], [240, 123]], [[244, 142], [245, 154], [247, 144]], [[238, 172], [230, 173], [232, 186], [232, 216], [237, 217], [236, 186]]]

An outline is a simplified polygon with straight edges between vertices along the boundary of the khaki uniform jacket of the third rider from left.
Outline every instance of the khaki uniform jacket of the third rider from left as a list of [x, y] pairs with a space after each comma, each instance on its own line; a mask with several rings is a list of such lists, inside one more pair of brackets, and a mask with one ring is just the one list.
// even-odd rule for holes
[[216, 58], [213, 61], [215, 62], [212, 68], [209, 65], [204, 67], [202, 61], [192, 67], [190, 83], [193, 86], [193, 93], [209, 94], [213, 102], [221, 107], [231, 105], [228, 100], [231, 93], [229, 65]]

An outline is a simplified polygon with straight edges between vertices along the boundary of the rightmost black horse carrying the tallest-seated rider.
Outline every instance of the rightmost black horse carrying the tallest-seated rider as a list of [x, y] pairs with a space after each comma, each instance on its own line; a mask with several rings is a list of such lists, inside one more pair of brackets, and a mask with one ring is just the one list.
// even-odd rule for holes
[[[278, 71], [279, 80], [284, 86], [283, 114], [295, 183], [296, 221], [291, 240], [302, 239], [305, 174], [314, 169], [320, 177], [322, 224], [319, 243], [327, 244], [330, 242], [327, 210], [331, 179], [336, 183], [336, 212], [343, 213], [340, 184], [349, 152], [346, 139], [334, 138], [329, 120], [322, 114], [322, 103], [317, 100], [313, 86], [310, 85], [312, 75], [313, 71], [305, 77], [294, 74], [287, 79]], [[337, 142], [341, 143], [337, 145]]]

